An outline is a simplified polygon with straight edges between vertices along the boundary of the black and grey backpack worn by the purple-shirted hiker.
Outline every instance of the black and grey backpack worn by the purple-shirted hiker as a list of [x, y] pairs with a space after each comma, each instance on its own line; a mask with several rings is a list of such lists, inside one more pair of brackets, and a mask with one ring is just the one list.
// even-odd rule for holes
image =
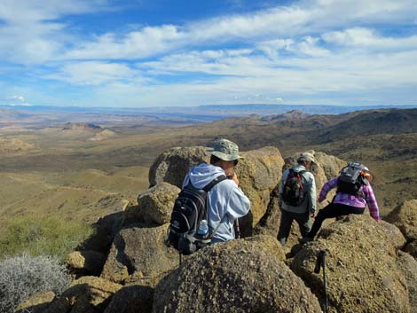
[[360, 187], [368, 184], [366, 177], [363, 176], [365, 170], [365, 166], [358, 162], [350, 162], [348, 166], [342, 168], [337, 179], [337, 192], [363, 197]]

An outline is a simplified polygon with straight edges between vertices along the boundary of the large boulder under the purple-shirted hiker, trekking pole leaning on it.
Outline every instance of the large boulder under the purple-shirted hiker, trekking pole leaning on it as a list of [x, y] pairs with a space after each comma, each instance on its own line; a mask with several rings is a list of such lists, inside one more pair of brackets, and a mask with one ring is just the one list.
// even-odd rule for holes
[[389, 232], [368, 215], [348, 215], [303, 246], [291, 269], [324, 301], [317, 254], [327, 251], [327, 293], [331, 312], [409, 312], [405, 276], [397, 270], [397, 250]]

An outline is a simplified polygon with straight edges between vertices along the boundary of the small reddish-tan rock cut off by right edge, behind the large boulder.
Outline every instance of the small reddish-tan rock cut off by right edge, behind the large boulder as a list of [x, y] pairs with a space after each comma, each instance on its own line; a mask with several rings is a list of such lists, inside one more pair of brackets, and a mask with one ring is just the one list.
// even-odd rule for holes
[[385, 218], [395, 224], [408, 241], [417, 240], [417, 200], [407, 200]]

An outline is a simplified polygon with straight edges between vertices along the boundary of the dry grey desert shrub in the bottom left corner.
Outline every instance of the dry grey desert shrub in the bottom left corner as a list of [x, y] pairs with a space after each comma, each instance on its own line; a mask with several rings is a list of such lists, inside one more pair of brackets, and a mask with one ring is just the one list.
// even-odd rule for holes
[[62, 293], [69, 285], [65, 265], [55, 256], [21, 254], [0, 261], [0, 312], [13, 309], [43, 291]]

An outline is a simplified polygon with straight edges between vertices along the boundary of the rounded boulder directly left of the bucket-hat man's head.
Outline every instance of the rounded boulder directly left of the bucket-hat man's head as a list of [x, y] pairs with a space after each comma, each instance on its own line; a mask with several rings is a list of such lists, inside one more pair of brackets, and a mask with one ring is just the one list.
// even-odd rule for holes
[[181, 188], [185, 174], [203, 161], [209, 162], [203, 146], [175, 147], [161, 153], [149, 168], [149, 184], [166, 182]]

